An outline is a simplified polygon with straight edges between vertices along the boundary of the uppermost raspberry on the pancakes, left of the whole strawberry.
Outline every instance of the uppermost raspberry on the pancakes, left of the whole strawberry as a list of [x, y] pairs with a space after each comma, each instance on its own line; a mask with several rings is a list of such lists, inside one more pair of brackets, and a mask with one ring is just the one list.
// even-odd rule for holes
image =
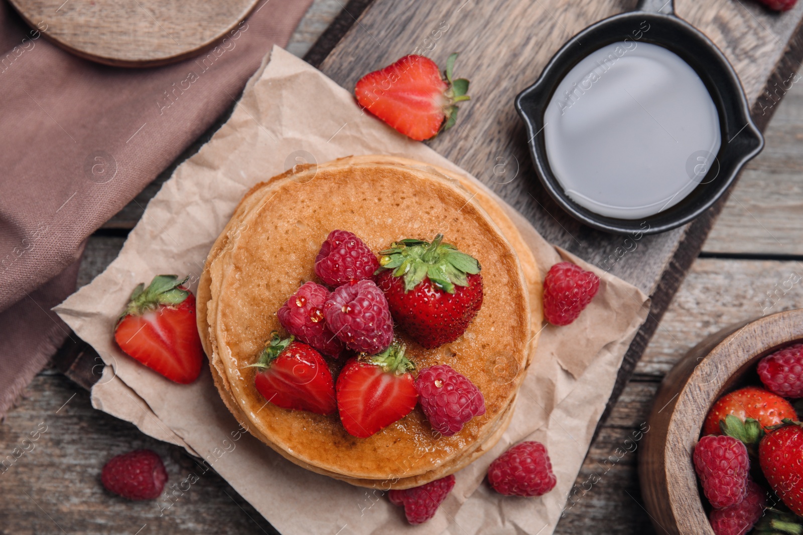
[[329, 286], [371, 278], [378, 268], [376, 255], [348, 230], [332, 230], [315, 257], [315, 274]]

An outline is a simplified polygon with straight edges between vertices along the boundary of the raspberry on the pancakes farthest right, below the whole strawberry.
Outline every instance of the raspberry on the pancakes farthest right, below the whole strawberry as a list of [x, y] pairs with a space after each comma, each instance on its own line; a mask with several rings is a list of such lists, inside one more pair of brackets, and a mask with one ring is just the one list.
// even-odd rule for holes
[[485, 414], [485, 399], [479, 388], [448, 364], [424, 368], [415, 379], [419, 403], [432, 428], [452, 436], [475, 416]]

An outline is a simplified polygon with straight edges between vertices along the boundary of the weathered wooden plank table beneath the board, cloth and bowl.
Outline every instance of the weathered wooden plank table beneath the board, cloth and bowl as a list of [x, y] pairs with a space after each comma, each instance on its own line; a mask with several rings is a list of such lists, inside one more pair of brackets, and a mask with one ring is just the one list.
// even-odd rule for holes
[[[339, 0], [316, 0], [288, 50], [304, 55], [341, 9]], [[787, 281], [803, 275], [801, 85], [794, 85], [781, 103], [764, 102], [768, 112], [774, 112], [765, 131], [767, 146], [733, 188], [634, 375], [623, 383], [622, 395], [598, 428], [556, 533], [652, 533], [638, 488], [638, 449], [624, 455], [622, 451], [626, 437], [646, 421], [662, 376], [696, 342], [723, 326], [803, 307], [803, 282], [784, 290]], [[448, 143], [447, 136], [442, 140]], [[197, 148], [188, 149], [187, 155]], [[112, 261], [127, 229], [141, 217], [141, 206], [170, 172], [172, 168], [90, 238], [79, 285]], [[637, 264], [627, 270], [636, 273]], [[32, 445], [22, 442], [42, 425], [47, 432], [39, 440]], [[153, 448], [165, 459], [170, 482], [184, 479], [193, 460], [181, 448], [92, 409], [88, 392], [56, 371], [39, 374], [0, 425], [0, 456], [23, 444], [29, 451], [5, 470], [0, 468], [0, 533], [275, 533], [211, 472], [161, 516], [153, 502], [132, 503], [105, 492], [100, 468], [116, 453]]]

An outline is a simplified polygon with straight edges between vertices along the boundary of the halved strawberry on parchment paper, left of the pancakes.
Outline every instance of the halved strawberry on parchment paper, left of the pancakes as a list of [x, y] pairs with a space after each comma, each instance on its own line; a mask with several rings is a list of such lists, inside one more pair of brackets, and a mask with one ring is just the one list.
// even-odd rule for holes
[[195, 322], [195, 296], [175, 275], [157, 275], [137, 286], [114, 327], [120, 349], [176, 383], [201, 373], [203, 348]]

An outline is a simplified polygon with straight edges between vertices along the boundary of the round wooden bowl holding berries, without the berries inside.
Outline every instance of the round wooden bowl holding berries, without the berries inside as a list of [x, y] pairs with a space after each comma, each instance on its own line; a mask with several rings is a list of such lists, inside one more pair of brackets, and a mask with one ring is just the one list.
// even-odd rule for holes
[[691, 452], [719, 396], [758, 380], [758, 360], [803, 341], [803, 310], [788, 310], [711, 334], [663, 379], [638, 457], [647, 512], [658, 533], [714, 535]]

